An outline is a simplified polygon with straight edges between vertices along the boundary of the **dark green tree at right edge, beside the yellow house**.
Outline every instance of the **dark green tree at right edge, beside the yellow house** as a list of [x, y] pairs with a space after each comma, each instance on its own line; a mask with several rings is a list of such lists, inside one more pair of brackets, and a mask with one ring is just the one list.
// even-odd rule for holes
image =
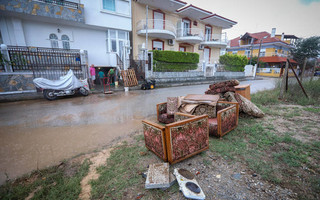
[[302, 65], [306, 58], [317, 58], [320, 55], [320, 36], [300, 39], [295, 45], [296, 48], [291, 50], [291, 54], [299, 65]]

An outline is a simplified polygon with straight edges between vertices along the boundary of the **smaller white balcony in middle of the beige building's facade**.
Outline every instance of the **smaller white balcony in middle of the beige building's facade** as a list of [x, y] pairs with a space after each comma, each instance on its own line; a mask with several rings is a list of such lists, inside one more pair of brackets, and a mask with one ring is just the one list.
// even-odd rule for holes
[[176, 41], [198, 44], [203, 41], [203, 31], [199, 28], [178, 29]]

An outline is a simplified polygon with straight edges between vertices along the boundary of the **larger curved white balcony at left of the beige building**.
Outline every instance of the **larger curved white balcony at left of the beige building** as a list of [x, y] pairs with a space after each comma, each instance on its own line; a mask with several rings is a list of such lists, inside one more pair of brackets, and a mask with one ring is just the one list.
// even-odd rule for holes
[[161, 38], [161, 39], [175, 39], [176, 38], [176, 28], [170, 20], [158, 20], [158, 19], [148, 19], [140, 20], [137, 23], [137, 34], [140, 36], [146, 36], [148, 32], [148, 37]]

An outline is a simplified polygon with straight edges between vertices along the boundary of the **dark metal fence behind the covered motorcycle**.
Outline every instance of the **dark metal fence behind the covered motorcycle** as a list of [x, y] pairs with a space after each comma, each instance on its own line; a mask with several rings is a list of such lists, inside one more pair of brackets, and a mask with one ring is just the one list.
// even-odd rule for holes
[[59, 79], [72, 69], [77, 78], [86, 78], [80, 50], [8, 46], [13, 72], [33, 72], [34, 78]]

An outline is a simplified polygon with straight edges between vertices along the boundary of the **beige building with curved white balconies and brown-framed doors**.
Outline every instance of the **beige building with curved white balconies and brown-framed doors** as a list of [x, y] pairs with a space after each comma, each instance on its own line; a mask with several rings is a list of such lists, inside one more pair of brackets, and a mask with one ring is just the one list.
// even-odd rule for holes
[[214, 64], [228, 43], [222, 31], [236, 23], [202, 8], [187, 6], [180, 0], [135, 0], [132, 2], [133, 59], [143, 59], [147, 46], [147, 50], [198, 53], [200, 63]]

